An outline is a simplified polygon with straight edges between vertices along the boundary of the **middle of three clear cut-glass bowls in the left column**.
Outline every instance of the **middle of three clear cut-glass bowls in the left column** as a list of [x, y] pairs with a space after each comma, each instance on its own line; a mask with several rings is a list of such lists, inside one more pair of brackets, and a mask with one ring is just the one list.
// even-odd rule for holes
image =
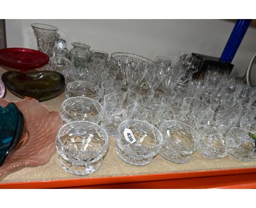
[[95, 124], [101, 120], [101, 103], [89, 97], [69, 97], [61, 105], [63, 121], [90, 121]]

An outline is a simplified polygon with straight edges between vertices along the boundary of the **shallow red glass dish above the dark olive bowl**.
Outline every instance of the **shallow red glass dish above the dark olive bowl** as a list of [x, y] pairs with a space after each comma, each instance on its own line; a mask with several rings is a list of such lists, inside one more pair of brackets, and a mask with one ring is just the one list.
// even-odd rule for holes
[[3, 48], [0, 64], [19, 70], [37, 69], [49, 62], [49, 56], [30, 48]]

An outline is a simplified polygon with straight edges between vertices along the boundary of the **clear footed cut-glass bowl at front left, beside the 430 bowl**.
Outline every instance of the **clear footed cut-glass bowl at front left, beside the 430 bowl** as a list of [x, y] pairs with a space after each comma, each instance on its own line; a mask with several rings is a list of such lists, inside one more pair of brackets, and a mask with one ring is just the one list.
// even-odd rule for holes
[[88, 175], [101, 167], [108, 149], [108, 135], [88, 121], [73, 121], [61, 127], [56, 136], [60, 166], [73, 175]]

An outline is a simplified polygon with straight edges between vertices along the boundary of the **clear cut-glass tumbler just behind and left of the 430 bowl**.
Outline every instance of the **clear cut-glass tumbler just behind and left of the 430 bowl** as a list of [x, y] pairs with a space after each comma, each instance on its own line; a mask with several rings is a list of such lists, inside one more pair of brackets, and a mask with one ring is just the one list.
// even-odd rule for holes
[[120, 123], [127, 120], [125, 93], [110, 93], [104, 96], [101, 126], [109, 135], [115, 135]]

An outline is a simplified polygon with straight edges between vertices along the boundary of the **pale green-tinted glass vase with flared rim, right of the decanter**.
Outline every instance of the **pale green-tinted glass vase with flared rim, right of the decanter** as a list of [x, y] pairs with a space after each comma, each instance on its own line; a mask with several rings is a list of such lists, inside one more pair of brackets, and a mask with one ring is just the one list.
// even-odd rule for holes
[[76, 70], [86, 70], [88, 72], [88, 65], [91, 58], [90, 46], [82, 42], [72, 42], [74, 46], [68, 52], [68, 58], [74, 63]]

